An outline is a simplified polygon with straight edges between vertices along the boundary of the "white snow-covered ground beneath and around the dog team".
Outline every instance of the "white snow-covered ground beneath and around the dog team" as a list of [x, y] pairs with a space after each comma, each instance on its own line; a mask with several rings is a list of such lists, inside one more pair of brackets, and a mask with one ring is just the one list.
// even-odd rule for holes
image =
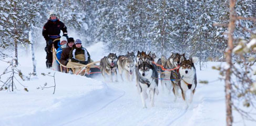
[[[94, 61], [107, 55], [103, 43], [86, 47]], [[25, 75], [32, 72], [29, 54], [19, 52], [19, 68]], [[208, 80], [208, 85], [198, 83], [193, 102], [184, 109], [185, 102], [167, 90], [155, 97], [155, 107], [142, 108], [140, 95], [134, 82], [104, 82], [101, 75], [87, 78], [56, 72], [54, 88], [37, 89], [48, 83], [54, 85], [55, 71], [45, 69], [45, 52], [36, 51], [37, 77], [21, 81], [28, 92], [17, 83], [14, 92], [0, 91], [0, 125], [226, 125], [224, 82], [218, 81], [219, 73], [211, 66], [219, 62], [208, 62], [207, 68], [199, 70], [199, 80]], [[3, 65], [2, 65], [3, 64]], [[1, 63], [0, 72], [5, 69]], [[217, 80], [217, 81], [215, 81]], [[211, 82], [212, 81], [212, 82]], [[188, 93], [189, 94], [189, 93]], [[234, 125], [242, 125], [236, 120]], [[248, 125], [253, 125], [249, 123]]]

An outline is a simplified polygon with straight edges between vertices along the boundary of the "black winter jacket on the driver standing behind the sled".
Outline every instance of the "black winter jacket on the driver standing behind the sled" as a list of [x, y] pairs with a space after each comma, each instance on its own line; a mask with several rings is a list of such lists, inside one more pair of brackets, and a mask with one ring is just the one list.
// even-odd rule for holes
[[62, 30], [64, 34], [67, 34], [67, 27], [64, 25], [64, 23], [60, 22], [59, 20], [56, 20], [55, 22], [48, 20], [43, 27], [42, 34], [45, 40], [48, 41], [50, 39], [60, 38], [60, 30]]

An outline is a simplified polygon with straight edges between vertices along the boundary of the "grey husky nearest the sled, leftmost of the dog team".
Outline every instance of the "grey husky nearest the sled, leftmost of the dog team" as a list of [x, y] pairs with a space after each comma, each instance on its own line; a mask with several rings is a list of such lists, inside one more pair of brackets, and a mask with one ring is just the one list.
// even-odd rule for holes
[[113, 82], [112, 74], [116, 75], [117, 80], [117, 55], [109, 53], [107, 57], [100, 59], [100, 71], [106, 81], [105, 74], [110, 75], [111, 82]]

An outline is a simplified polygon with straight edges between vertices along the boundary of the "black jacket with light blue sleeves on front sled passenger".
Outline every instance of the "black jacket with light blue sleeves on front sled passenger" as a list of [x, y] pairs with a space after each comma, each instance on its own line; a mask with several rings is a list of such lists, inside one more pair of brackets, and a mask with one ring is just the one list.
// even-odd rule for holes
[[69, 59], [71, 59], [72, 62], [90, 62], [90, 54], [85, 48], [77, 48], [76, 46], [74, 46], [69, 53]]

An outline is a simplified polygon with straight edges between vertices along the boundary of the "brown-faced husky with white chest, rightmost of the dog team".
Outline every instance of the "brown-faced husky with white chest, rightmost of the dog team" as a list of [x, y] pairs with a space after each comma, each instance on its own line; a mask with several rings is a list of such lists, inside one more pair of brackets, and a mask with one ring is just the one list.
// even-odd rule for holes
[[[183, 57], [182, 57], [183, 58]], [[186, 107], [188, 107], [186, 91], [190, 90], [190, 103], [193, 100], [194, 91], [197, 87], [197, 75], [196, 68], [194, 64], [198, 61], [197, 57], [190, 58], [189, 60], [183, 59], [180, 64], [180, 89], [183, 100], [186, 102]]]

